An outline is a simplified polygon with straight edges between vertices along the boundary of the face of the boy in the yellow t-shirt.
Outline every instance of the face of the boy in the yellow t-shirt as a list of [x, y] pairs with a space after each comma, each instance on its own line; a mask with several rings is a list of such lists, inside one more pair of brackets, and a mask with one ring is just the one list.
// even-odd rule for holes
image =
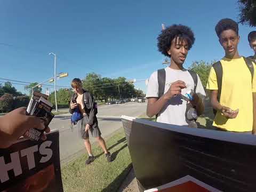
[[237, 53], [237, 45], [239, 43], [239, 36], [232, 29], [222, 31], [219, 42], [225, 50], [226, 57], [233, 58]]

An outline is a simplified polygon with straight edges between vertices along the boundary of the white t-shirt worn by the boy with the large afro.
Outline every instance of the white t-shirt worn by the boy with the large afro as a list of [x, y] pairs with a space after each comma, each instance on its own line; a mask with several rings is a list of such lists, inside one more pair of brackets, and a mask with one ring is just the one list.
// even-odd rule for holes
[[[181, 94], [185, 95], [189, 90], [194, 90], [194, 81], [192, 76], [187, 70], [177, 70], [171, 69], [170, 67], [165, 68], [166, 80], [164, 93], [169, 90], [170, 84], [175, 81], [183, 81], [186, 83], [187, 88], [181, 90]], [[201, 96], [202, 99], [205, 97], [204, 87], [202, 82], [197, 75], [197, 86], [196, 93]], [[158, 97], [158, 81], [157, 81], [157, 71], [151, 74], [148, 82], [148, 90], [146, 98]], [[168, 123], [173, 125], [188, 125], [186, 122], [186, 108], [187, 101], [183, 100], [180, 95], [171, 98], [161, 111], [159, 111], [157, 116], [157, 122]]]

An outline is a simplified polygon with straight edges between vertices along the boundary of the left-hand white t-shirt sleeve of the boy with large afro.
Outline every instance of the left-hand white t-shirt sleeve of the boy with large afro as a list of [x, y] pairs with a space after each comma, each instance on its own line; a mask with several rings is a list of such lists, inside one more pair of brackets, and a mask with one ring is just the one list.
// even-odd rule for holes
[[150, 98], [150, 97], [158, 98], [157, 71], [155, 71], [153, 74], [151, 74], [149, 81], [148, 81], [146, 98]]

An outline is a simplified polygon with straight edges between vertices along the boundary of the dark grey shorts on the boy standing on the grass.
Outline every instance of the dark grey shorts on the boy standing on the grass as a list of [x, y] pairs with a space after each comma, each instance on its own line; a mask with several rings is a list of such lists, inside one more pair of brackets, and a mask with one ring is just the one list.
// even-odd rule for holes
[[[77, 122], [78, 134], [79, 134], [79, 137], [81, 137], [82, 139], [89, 138], [89, 131], [85, 132], [85, 126], [86, 126], [87, 122], [88, 122], [87, 115], [85, 115], [82, 119], [80, 119]], [[101, 132], [100, 132], [97, 120], [95, 122], [93, 122], [93, 125], [91, 125], [89, 130], [92, 134], [92, 137], [95, 137], [95, 138], [100, 137]]]

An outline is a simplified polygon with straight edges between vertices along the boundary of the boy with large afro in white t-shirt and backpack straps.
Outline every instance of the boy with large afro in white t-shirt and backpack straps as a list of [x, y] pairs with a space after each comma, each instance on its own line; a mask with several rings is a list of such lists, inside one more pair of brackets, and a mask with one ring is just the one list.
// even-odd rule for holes
[[195, 74], [197, 85], [194, 99], [187, 101], [181, 95], [193, 90], [195, 86], [193, 77], [187, 69], [183, 68], [188, 51], [195, 42], [193, 31], [187, 26], [172, 25], [163, 29], [157, 40], [159, 52], [170, 57], [171, 62], [170, 66], [164, 69], [163, 95], [158, 93], [158, 71], [151, 74], [149, 78], [146, 94], [147, 115], [149, 117], [157, 115], [157, 122], [187, 126], [189, 124], [186, 119], [187, 103], [190, 102], [196, 108], [197, 114], [201, 115], [204, 111], [201, 96], [205, 96], [203, 85], [197, 74]]

